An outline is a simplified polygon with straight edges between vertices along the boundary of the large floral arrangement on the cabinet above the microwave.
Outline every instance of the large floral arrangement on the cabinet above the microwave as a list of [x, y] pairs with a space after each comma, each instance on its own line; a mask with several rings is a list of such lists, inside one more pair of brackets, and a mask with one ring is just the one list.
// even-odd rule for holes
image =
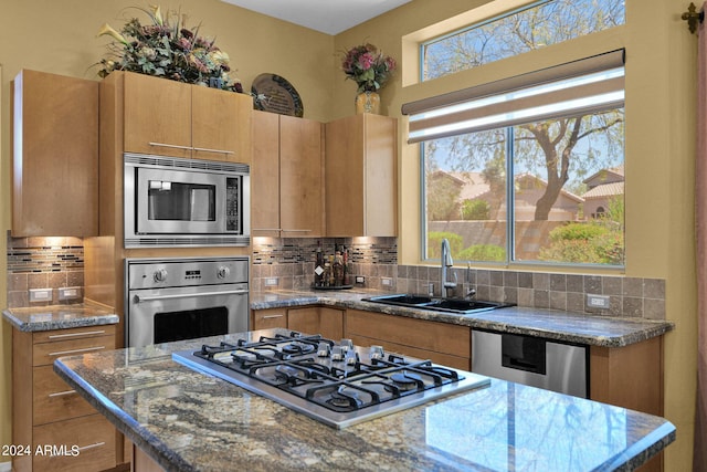
[[108, 45], [109, 57], [103, 59], [98, 71], [105, 77], [113, 71], [128, 71], [156, 75], [190, 84], [243, 92], [238, 78], [231, 76], [229, 55], [199, 35], [199, 27], [189, 29], [186, 15], [168, 12], [162, 17], [160, 7], [138, 8], [149, 17], [151, 24], [143, 25], [137, 18], [129, 20], [120, 31], [105, 23], [97, 36], [115, 40]]

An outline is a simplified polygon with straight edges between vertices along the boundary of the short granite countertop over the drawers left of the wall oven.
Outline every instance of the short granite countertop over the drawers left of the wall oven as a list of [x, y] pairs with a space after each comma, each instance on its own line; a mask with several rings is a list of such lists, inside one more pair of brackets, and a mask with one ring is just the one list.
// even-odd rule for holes
[[107, 308], [87, 303], [7, 308], [2, 317], [17, 329], [29, 333], [114, 325], [120, 321]]

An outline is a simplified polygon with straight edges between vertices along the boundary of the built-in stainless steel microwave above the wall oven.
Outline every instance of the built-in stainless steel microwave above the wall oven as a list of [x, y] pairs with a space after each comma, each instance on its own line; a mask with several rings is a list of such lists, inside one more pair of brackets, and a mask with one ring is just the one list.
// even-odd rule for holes
[[246, 164], [124, 155], [125, 248], [249, 245]]

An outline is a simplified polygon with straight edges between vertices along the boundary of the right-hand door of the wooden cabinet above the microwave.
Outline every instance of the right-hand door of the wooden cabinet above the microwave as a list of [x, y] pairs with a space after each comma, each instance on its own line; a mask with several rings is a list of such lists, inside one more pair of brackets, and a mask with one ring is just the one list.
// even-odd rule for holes
[[[245, 96], [209, 87], [191, 87], [192, 157], [207, 160], [250, 162], [240, 153], [240, 144], [247, 140], [250, 123], [242, 123], [241, 107]], [[250, 97], [245, 98], [250, 102]]]

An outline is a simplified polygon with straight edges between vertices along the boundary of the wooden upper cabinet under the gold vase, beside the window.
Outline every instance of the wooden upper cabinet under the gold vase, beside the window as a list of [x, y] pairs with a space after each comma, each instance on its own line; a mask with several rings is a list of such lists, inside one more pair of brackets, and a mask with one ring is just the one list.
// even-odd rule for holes
[[371, 114], [327, 123], [327, 235], [397, 234], [397, 125]]

